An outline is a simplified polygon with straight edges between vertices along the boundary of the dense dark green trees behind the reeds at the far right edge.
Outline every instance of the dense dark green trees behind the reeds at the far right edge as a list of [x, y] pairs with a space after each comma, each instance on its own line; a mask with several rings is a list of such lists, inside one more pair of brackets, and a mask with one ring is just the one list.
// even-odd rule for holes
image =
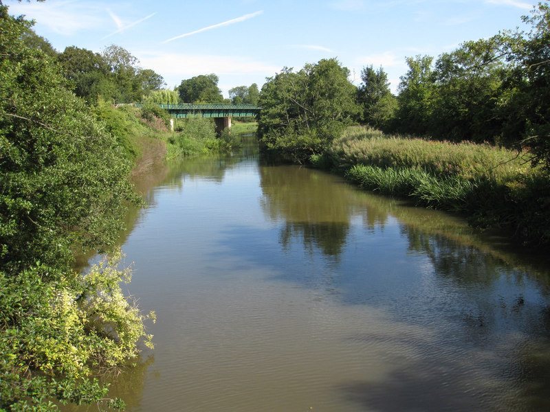
[[500, 32], [441, 54], [408, 58], [393, 130], [452, 141], [527, 148], [550, 170], [550, 5], [523, 21], [530, 32]]

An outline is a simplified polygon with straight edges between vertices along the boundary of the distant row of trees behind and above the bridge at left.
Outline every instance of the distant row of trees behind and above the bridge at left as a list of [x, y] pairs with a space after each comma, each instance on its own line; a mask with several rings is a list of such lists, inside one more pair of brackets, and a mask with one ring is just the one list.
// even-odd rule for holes
[[25, 46], [40, 49], [58, 62], [69, 88], [89, 104], [96, 103], [98, 98], [114, 104], [258, 103], [260, 92], [256, 83], [234, 87], [229, 90], [229, 98], [223, 98], [215, 73], [184, 79], [173, 90], [166, 89], [162, 76], [140, 67], [139, 60], [118, 45], [104, 47], [101, 53], [76, 46], [56, 52], [47, 39], [30, 27], [23, 32], [21, 40]]

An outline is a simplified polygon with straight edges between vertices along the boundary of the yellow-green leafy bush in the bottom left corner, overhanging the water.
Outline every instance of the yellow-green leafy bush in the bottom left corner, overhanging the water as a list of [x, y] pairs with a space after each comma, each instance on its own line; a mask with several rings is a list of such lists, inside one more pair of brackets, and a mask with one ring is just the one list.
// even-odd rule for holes
[[[137, 356], [151, 335], [146, 319], [122, 294], [129, 269], [120, 253], [86, 275], [37, 264], [16, 275], [0, 272], [0, 409], [45, 411], [52, 400], [113, 407], [107, 388], [92, 378]], [[63, 376], [63, 378], [62, 378]]]

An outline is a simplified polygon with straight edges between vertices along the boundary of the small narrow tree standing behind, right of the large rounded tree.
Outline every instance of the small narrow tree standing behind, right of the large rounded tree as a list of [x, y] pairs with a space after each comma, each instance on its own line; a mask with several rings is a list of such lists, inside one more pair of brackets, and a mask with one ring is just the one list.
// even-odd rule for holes
[[362, 121], [373, 128], [386, 129], [393, 118], [397, 101], [390, 91], [388, 75], [380, 67], [364, 67], [361, 71], [362, 83], [358, 88], [358, 102], [363, 108]]

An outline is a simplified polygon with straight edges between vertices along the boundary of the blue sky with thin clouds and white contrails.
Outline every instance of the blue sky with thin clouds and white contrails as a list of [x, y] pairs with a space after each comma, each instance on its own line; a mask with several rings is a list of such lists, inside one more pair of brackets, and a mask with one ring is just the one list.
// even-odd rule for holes
[[360, 83], [361, 69], [382, 66], [396, 91], [405, 58], [437, 57], [463, 41], [523, 27], [534, 0], [5, 0], [10, 14], [60, 52], [101, 52], [115, 44], [161, 74], [181, 80], [216, 73], [228, 89], [257, 83], [283, 67], [338, 58]]

